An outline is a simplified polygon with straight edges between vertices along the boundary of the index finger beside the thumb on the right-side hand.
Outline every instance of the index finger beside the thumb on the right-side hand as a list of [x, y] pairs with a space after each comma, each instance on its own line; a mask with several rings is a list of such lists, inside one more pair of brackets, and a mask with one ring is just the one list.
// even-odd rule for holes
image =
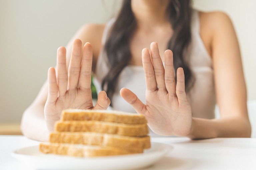
[[142, 64], [145, 72], [147, 90], [156, 91], [157, 90], [156, 77], [155, 77], [155, 72], [154, 72], [154, 68], [152, 65], [148, 48], [144, 48], [142, 50]]

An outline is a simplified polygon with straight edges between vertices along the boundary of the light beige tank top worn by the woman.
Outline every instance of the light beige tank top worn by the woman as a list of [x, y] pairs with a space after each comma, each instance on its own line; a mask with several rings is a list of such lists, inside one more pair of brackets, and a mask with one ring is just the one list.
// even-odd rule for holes
[[[105, 44], [109, 30], [114, 22], [115, 20], [112, 19], [106, 24], [102, 37], [103, 45]], [[196, 80], [187, 96], [192, 107], [192, 116], [213, 119], [216, 101], [212, 59], [200, 37], [199, 15], [196, 10], [193, 10], [192, 13], [191, 33], [192, 39], [190, 44], [189, 62]], [[102, 90], [101, 82], [109, 71], [106, 61], [106, 52], [102, 50], [98, 57], [93, 79], [98, 93]], [[120, 96], [119, 91], [123, 87], [130, 89], [144, 104], [146, 103], [145, 74], [142, 66], [128, 65], [122, 70], [118, 79], [116, 91], [111, 100], [112, 108], [110, 109], [136, 113], [131, 105]]]

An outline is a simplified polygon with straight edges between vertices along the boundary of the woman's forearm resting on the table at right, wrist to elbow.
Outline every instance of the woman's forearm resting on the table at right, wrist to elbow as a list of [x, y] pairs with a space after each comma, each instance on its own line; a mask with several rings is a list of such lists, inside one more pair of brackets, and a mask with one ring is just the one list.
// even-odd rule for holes
[[188, 135], [191, 139], [250, 136], [251, 126], [246, 118], [192, 118], [191, 132]]

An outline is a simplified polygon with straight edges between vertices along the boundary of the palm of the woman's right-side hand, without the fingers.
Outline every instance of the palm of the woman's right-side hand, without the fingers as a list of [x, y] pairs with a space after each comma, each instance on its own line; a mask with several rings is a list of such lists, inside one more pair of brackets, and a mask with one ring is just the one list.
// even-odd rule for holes
[[186, 128], [191, 126], [192, 118], [187, 114], [190, 112], [190, 105], [179, 107], [177, 97], [171, 98], [168, 94], [157, 94], [157, 92], [146, 94], [145, 114], [150, 128], [158, 134], [182, 135], [179, 129], [184, 125], [187, 126]]

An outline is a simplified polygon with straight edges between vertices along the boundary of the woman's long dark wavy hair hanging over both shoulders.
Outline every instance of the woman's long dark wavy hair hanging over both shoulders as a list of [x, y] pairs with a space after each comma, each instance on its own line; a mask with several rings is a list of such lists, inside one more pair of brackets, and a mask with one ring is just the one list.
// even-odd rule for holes
[[[193, 74], [188, 64], [192, 13], [190, 3], [190, 0], [170, 0], [167, 8], [167, 15], [169, 15], [169, 21], [173, 29], [173, 35], [168, 42], [167, 49], [173, 51], [175, 70], [178, 67], [182, 67], [184, 70], [186, 91], [190, 90], [194, 82]], [[131, 61], [130, 39], [136, 26], [131, 0], [124, 0], [104, 47], [110, 70], [103, 79], [101, 86], [110, 100], [115, 92], [119, 74]]]

